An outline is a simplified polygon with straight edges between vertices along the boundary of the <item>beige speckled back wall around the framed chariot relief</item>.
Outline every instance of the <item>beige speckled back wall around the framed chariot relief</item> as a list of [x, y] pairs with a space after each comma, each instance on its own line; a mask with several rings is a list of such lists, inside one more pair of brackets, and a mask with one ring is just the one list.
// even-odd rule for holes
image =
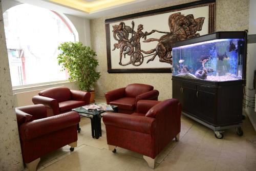
[[[174, 1], [167, 4], [159, 4], [144, 9], [126, 13], [117, 13], [112, 16], [91, 20], [91, 46], [97, 53], [97, 58], [99, 60], [99, 67], [97, 70], [101, 72], [101, 77], [95, 88], [97, 96], [104, 97], [104, 92], [125, 87], [129, 83], [145, 83], [151, 84], [155, 89], [159, 90], [159, 100], [172, 98], [172, 74], [170, 73], [109, 74], [107, 72], [108, 66], [104, 20], [189, 2], [194, 1]], [[248, 29], [249, 0], [217, 0], [216, 4], [216, 31]]]

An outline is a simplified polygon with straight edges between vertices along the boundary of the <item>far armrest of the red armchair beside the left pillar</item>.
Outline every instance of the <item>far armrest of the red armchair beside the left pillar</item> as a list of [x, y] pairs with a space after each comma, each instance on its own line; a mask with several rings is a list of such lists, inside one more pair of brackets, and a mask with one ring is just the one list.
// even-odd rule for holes
[[27, 105], [16, 108], [22, 112], [32, 115], [32, 120], [46, 118], [47, 110], [43, 104]]

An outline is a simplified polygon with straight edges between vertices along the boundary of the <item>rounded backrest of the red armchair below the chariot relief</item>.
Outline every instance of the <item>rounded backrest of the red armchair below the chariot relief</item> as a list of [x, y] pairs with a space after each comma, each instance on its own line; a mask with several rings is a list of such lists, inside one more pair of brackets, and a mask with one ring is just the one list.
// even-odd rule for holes
[[153, 86], [150, 86], [147, 84], [133, 83], [133, 84], [129, 84], [125, 88], [125, 96], [126, 97], [136, 97], [142, 93], [149, 92], [153, 89], [154, 89]]

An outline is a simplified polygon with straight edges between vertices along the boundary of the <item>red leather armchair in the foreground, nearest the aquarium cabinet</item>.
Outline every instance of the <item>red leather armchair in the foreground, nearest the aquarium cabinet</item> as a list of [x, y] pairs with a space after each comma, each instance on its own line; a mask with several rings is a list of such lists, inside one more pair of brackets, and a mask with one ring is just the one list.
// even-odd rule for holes
[[151, 168], [155, 158], [174, 138], [179, 141], [181, 104], [177, 99], [140, 100], [131, 115], [105, 113], [109, 149], [119, 146], [140, 153]]

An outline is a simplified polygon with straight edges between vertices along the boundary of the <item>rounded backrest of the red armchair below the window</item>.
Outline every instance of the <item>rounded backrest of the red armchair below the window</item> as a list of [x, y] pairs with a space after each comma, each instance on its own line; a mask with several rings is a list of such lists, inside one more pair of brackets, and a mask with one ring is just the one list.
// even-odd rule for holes
[[71, 91], [69, 88], [65, 87], [55, 87], [42, 90], [38, 93], [38, 95], [56, 99], [58, 102], [67, 101], [71, 99]]

